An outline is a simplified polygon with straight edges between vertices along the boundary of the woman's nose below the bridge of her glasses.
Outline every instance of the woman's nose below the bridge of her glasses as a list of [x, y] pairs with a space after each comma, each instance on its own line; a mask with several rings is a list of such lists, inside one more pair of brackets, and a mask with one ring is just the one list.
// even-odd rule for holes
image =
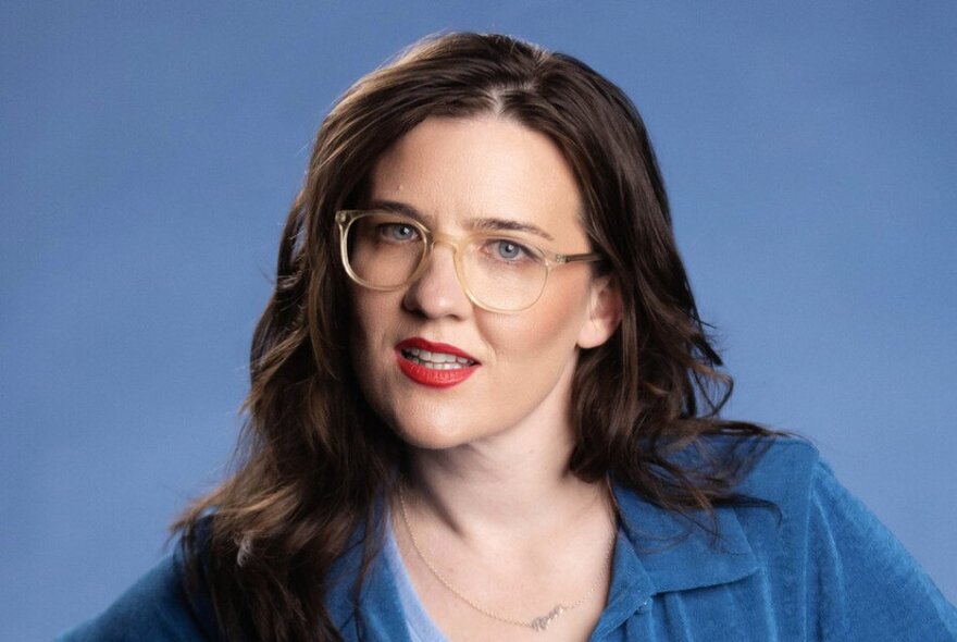
[[436, 243], [427, 258], [425, 270], [406, 291], [402, 306], [430, 319], [468, 317], [472, 301], [456, 272], [455, 248]]

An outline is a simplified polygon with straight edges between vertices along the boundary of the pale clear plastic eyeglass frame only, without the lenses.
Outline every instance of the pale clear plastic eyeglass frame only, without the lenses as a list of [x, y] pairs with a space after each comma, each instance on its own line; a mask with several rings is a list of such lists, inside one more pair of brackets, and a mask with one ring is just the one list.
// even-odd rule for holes
[[[402, 224], [408, 224], [409, 226], [414, 227], [421, 235], [421, 238], [424, 240], [424, 249], [422, 251], [422, 256], [419, 259], [419, 266], [412, 271], [409, 277], [401, 283], [386, 286], [370, 283], [369, 281], [365, 281], [361, 276], [359, 276], [359, 274], [357, 274], [356, 271], [352, 269], [352, 266], [349, 264], [349, 230], [356, 223], [356, 221], [373, 214], [385, 214], [388, 215], [396, 223], [401, 222]], [[456, 266], [456, 276], [459, 280], [459, 284], [462, 286], [462, 291], [465, 293], [465, 296], [469, 297], [469, 300], [471, 300], [474, 305], [482, 308], [483, 310], [488, 310], [490, 312], [500, 312], [505, 314], [522, 312], [534, 306], [538, 301], [538, 299], [542, 298], [542, 293], [545, 292], [545, 286], [548, 283], [548, 275], [551, 273], [552, 269], [574, 262], [593, 262], [604, 259], [604, 256], [598, 252], [568, 255], [547, 251], [539, 247], [536, 247], [533, 244], [527, 243], [524, 239], [510, 236], [508, 234], [489, 234], [486, 232], [476, 232], [473, 234], [468, 234], [465, 236], [440, 234], [437, 232], [433, 232], [415, 219], [388, 210], [340, 210], [336, 212], [335, 220], [336, 225], [339, 229], [339, 258], [343, 261], [343, 267], [346, 269], [346, 273], [349, 275], [349, 277], [362, 287], [380, 292], [389, 292], [400, 289], [411, 283], [414, 283], [428, 266], [428, 261], [432, 257], [432, 250], [435, 248], [435, 245], [443, 243], [452, 248], [452, 257]], [[531, 252], [538, 256], [538, 258], [545, 264], [545, 276], [542, 280], [542, 287], [538, 289], [538, 294], [534, 297], [534, 299], [532, 299], [527, 305], [523, 305], [518, 308], [499, 308], [495, 306], [489, 306], [488, 304], [483, 303], [477, 296], [475, 296], [475, 294], [469, 287], [469, 283], [464, 277], [464, 270], [462, 268], [461, 257], [465, 255], [467, 249], [476, 238], [514, 240], [515, 244], [520, 245], [523, 248], [526, 248]]]

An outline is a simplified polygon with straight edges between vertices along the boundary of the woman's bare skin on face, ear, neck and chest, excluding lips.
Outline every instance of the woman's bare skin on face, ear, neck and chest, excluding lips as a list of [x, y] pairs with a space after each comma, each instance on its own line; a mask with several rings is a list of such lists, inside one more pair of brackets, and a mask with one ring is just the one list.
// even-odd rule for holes
[[[444, 234], [468, 234], [477, 219], [494, 218], [537, 226], [551, 238], [518, 235], [544, 249], [592, 249], [559, 149], [494, 115], [417, 126], [375, 164], [370, 201], [402, 203]], [[605, 489], [568, 472], [569, 404], [579, 351], [618, 326], [613, 283], [585, 263], [564, 266], [532, 308], [490, 312], [471, 303], [452, 250], [437, 245], [417, 282], [394, 292], [353, 285], [352, 301], [356, 371], [410, 447], [409, 518], [430, 559], [475, 602], [521, 619], [597, 585], [548, 631], [551, 640], [586, 639], [604, 606], [614, 527]], [[395, 349], [413, 336], [451, 344], [481, 366], [449, 388], [415, 383], [399, 370]], [[455, 597], [422, 565], [401, 521], [394, 527], [420, 597], [452, 640], [535, 639]]]

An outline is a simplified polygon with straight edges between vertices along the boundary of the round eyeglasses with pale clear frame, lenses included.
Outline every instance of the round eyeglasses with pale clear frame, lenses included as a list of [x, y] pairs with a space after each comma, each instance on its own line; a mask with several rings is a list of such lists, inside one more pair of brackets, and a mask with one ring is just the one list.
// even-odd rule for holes
[[359, 285], [377, 291], [405, 287], [422, 275], [433, 248], [444, 243], [453, 250], [465, 295], [493, 312], [526, 310], [542, 296], [554, 268], [602, 258], [596, 252], [549, 252], [499, 233], [449, 236], [387, 210], [343, 210], [336, 212], [336, 224], [343, 266]]

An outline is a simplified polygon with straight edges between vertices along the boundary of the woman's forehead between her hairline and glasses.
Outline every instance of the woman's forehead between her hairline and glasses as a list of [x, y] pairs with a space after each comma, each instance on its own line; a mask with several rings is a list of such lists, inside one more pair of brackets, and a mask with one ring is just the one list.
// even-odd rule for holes
[[495, 218], [580, 235], [581, 195], [558, 147], [497, 116], [427, 119], [375, 163], [372, 201], [406, 203], [426, 223], [473, 227]]

